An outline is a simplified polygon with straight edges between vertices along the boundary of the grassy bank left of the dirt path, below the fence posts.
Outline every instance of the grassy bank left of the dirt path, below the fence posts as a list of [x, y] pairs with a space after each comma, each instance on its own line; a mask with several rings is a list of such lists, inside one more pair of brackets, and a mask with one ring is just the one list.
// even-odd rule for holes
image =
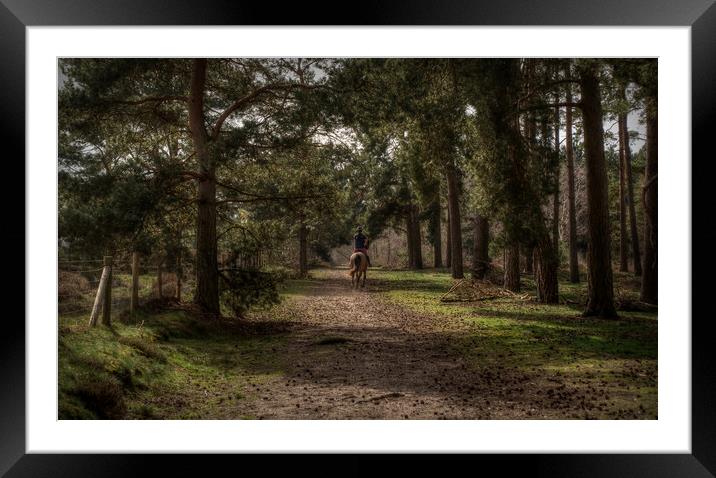
[[60, 419], [236, 418], [251, 385], [281, 375], [283, 337], [232, 332], [182, 310], [89, 328], [60, 317]]

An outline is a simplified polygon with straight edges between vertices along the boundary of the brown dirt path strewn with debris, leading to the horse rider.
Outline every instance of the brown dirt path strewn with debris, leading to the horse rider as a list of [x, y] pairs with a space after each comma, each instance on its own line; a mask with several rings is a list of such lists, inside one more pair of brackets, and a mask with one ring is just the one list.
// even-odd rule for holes
[[[528, 418], [526, 375], [496, 382], [451, 337], [469, 325], [406, 311], [332, 271], [290, 303], [285, 374], [251, 387], [244, 413], [262, 419]], [[495, 374], [500, 371], [494, 371]], [[493, 385], [494, 384], [494, 385]], [[501, 398], [504, 395], [507, 398]], [[525, 400], [526, 398], [526, 400]]]

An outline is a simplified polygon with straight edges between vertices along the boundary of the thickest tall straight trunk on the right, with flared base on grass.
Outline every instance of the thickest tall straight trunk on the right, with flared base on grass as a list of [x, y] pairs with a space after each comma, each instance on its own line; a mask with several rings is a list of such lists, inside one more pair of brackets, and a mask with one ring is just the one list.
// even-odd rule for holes
[[580, 69], [584, 150], [587, 165], [589, 246], [588, 300], [585, 316], [616, 317], [612, 279], [607, 168], [604, 160], [602, 104], [595, 66]]

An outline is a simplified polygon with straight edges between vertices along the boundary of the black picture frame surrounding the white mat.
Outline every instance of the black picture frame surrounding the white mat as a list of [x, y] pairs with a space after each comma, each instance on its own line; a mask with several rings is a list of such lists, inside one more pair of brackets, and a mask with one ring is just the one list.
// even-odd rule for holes
[[[339, 8], [342, 8], [339, 9]], [[716, 113], [716, 5], [714, 0], [501, 0], [440, 2], [376, 0], [339, 7], [336, 2], [291, 2], [277, 8], [271, 2], [229, 0], [0, 0], [0, 138], [6, 178], [23, 188], [25, 157], [25, 28], [44, 25], [628, 25], [691, 26], [692, 157], [713, 158], [710, 135]], [[12, 164], [8, 164], [12, 163]], [[694, 161], [692, 160], [692, 165]], [[7, 166], [17, 169], [10, 173]], [[693, 178], [698, 176], [693, 175]], [[701, 180], [706, 180], [703, 177]], [[695, 187], [695, 185], [694, 185]], [[703, 191], [703, 189], [701, 189]], [[24, 191], [23, 191], [24, 192]], [[4, 204], [22, 215], [17, 204], [22, 192], [5, 189]], [[693, 190], [692, 190], [693, 194]], [[24, 194], [22, 194], [24, 198]], [[712, 201], [712, 200], [711, 200]], [[692, 196], [694, 207], [709, 198]], [[10, 211], [10, 212], [12, 212]], [[699, 217], [695, 212], [692, 217]], [[18, 218], [19, 219], [19, 218]], [[692, 222], [692, 238], [712, 242], [709, 225]], [[14, 235], [15, 251], [25, 249], [25, 228]], [[6, 235], [7, 237], [7, 235]], [[692, 240], [693, 242], [693, 240]], [[694, 243], [694, 245], [696, 245]], [[19, 259], [19, 254], [14, 254]], [[692, 270], [708, 270], [713, 259], [699, 261]], [[22, 264], [24, 266], [24, 264]], [[10, 267], [10, 266], [8, 266]], [[20, 270], [20, 264], [16, 266]], [[24, 269], [22, 269], [24, 270]], [[20, 281], [19, 277], [23, 280]], [[25, 287], [24, 273], [14, 280]], [[689, 279], [689, 278], [686, 278]], [[701, 287], [692, 280], [693, 287]], [[31, 284], [27, 284], [31, 286]], [[692, 297], [699, 294], [692, 292]], [[707, 297], [707, 296], [705, 296]], [[24, 315], [24, 305], [21, 307]], [[17, 314], [6, 314], [0, 329], [0, 474], [7, 476], [124, 476], [146, 461], [186, 474], [206, 474], [204, 464], [185, 456], [26, 454], [25, 450], [25, 328]], [[694, 318], [697, 316], [694, 315]], [[672, 320], [688, 320], [678, 317]], [[479, 455], [485, 470], [494, 462], [502, 471], [529, 469], [531, 475], [707, 477], [716, 474], [716, 364], [705, 314], [692, 320], [692, 454], [568, 454]], [[249, 469], [242, 457], [243, 469]], [[231, 456], [212, 457], [223, 464]], [[141, 461], [141, 463], [140, 463]], [[208, 460], [205, 460], [208, 461]], [[301, 460], [295, 463], [299, 466]], [[363, 458], [344, 461], [342, 472], [355, 472]], [[413, 464], [419, 465], [416, 459]], [[490, 463], [491, 464], [491, 463]], [[471, 465], [472, 466], [472, 465]], [[168, 471], [168, 468], [165, 470]], [[330, 471], [330, 470], [329, 470]], [[168, 474], [168, 473], [165, 473]]]

